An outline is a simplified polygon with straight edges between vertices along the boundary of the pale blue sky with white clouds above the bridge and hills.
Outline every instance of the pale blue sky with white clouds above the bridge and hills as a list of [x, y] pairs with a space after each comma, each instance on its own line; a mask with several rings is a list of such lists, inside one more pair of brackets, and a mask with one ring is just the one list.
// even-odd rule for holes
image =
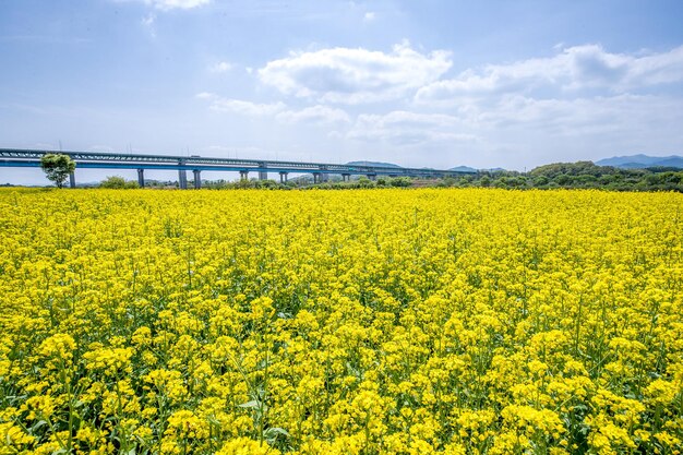
[[516, 170], [683, 154], [682, 21], [680, 0], [1, 1], [0, 148]]

